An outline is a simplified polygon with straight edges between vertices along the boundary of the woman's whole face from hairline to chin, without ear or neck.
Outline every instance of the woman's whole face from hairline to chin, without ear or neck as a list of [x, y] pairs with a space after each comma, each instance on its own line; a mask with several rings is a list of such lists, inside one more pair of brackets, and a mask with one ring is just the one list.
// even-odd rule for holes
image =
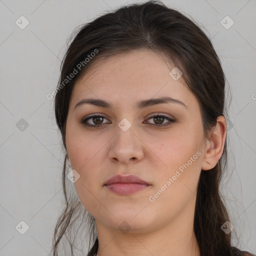
[[[75, 83], [66, 149], [80, 175], [77, 195], [96, 225], [144, 232], [194, 211], [205, 147], [202, 120], [182, 76], [169, 74], [173, 68], [162, 54], [133, 50], [96, 60]], [[175, 100], [152, 101], [161, 97]], [[110, 106], [82, 103], [88, 98]], [[117, 174], [136, 175], [146, 184], [106, 185]]]

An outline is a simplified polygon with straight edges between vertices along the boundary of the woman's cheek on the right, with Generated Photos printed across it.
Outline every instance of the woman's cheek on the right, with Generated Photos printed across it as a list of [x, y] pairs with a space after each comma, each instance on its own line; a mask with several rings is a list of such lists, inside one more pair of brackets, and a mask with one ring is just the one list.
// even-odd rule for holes
[[165, 138], [158, 144], [152, 142], [159, 159], [158, 166], [161, 166], [155, 173], [157, 182], [155, 194], [151, 194], [154, 197], [152, 200], [159, 204], [169, 201], [173, 206], [177, 201], [182, 204], [194, 196], [202, 155], [197, 137], [186, 131], [180, 132], [179, 136]]

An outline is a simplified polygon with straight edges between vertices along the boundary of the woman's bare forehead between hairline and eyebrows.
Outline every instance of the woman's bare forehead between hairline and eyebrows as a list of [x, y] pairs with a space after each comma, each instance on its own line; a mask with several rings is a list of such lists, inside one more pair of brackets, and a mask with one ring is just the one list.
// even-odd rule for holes
[[189, 105], [195, 97], [182, 76], [174, 80], [169, 74], [174, 67], [166, 56], [147, 49], [97, 59], [75, 82], [70, 106], [84, 97], [104, 98], [127, 106], [132, 101], [160, 96], [177, 98]]

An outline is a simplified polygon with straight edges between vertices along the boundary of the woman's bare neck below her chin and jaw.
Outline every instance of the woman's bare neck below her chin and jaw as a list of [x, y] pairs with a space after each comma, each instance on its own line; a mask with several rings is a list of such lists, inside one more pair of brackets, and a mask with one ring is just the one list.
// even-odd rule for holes
[[150, 232], [127, 233], [109, 229], [96, 221], [98, 256], [112, 255], [161, 255], [161, 256], [200, 256], [198, 243], [193, 232], [193, 216], [189, 222], [184, 216]]

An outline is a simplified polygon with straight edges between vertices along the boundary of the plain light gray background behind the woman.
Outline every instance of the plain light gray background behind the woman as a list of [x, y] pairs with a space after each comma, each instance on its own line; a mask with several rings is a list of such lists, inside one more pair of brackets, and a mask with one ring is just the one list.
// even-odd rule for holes
[[[57, 85], [73, 29], [131, 2], [138, 1], [0, 0], [0, 256], [49, 255], [63, 156], [46, 94]], [[256, 253], [256, 1], [163, 2], [204, 27], [222, 62], [232, 96], [223, 194], [238, 235], [233, 244]], [[15, 23], [21, 15], [29, 21], [24, 29]], [[226, 15], [234, 21], [228, 29], [220, 22]], [[24, 234], [15, 229], [21, 220], [29, 226]]]

